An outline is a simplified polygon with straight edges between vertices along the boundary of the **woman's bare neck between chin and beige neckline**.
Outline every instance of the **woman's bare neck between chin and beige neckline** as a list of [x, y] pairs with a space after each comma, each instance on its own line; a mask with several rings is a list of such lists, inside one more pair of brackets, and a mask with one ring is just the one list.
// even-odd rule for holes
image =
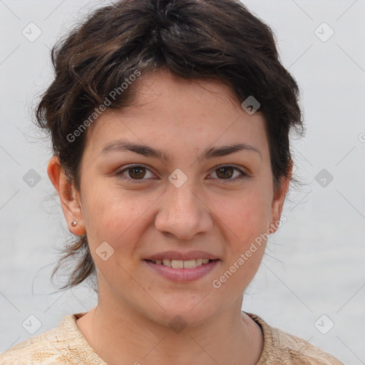
[[99, 298], [97, 307], [76, 324], [108, 365], [253, 365], [262, 353], [262, 332], [241, 305], [242, 298], [225, 312], [179, 331]]

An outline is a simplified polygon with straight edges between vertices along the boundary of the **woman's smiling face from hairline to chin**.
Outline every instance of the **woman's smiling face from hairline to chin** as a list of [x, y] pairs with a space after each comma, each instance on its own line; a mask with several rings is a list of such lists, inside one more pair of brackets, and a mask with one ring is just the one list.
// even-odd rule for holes
[[102, 300], [161, 324], [201, 322], [241, 304], [264, 254], [257, 237], [279, 220], [286, 188], [274, 194], [264, 118], [230, 88], [166, 71], [138, 82], [137, 105], [104, 112], [88, 131], [71, 214]]

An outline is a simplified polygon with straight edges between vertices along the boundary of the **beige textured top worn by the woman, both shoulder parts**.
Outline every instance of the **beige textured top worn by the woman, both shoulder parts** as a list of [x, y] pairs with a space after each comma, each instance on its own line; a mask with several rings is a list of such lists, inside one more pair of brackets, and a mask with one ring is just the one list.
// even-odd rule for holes
[[[277, 328], [255, 314], [250, 316], [264, 334], [257, 365], [344, 365], [334, 356]], [[1, 365], [107, 365], [91, 348], [76, 325], [84, 313], [69, 314], [57, 327], [16, 344], [0, 354]]]

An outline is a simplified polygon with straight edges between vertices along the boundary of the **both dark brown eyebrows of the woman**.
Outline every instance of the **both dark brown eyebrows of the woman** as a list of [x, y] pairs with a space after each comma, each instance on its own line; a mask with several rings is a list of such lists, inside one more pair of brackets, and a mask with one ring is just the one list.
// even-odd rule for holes
[[[172, 160], [171, 156], [168, 153], [165, 153], [161, 150], [156, 150], [153, 147], [148, 145], [139, 145], [136, 143], [128, 142], [128, 140], [114, 140], [113, 142], [108, 143], [103, 150], [101, 150], [101, 155], [110, 153], [110, 152], [120, 152], [120, 151], [132, 151], [134, 153], [139, 153], [140, 155], [144, 155], [145, 157], [158, 158], [159, 160], [163, 160], [166, 163]], [[236, 143], [235, 145], [222, 145], [219, 147], [207, 148], [198, 156], [198, 160], [205, 160], [209, 158], [216, 158], [221, 156], [227, 156], [232, 153], [236, 153], [238, 151], [248, 151], [248, 152], [256, 152], [259, 154], [259, 157], [262, 159], [262, 155], [260, 151], [253, 147], [252, 145], [248, 145], [247, 143]]]

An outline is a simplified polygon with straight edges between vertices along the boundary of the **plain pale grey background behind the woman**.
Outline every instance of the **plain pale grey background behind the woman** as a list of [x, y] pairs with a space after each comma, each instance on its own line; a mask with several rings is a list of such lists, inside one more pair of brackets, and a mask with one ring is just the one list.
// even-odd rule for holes
[[[0, 0], [0, 351], [96, 304], [86, 285], [63, 293], [51, 285], [56, 248], [69, 234], [46, 175], [49, 143], [30, 120], [53, 75], [49, 48], [101, 4]], [[292, 145], [305, 185], [290, 193], [287, 222], [270, 238], [242, 309], [345, 364], [365, 364], [365, 1], [245, 4], [277, 35], [302, 90], [307, 135]], [[35, 41], [22, 34], [31, 22], [41, 30]], [[334, 31], [329, 39], [323, 22]], [[26, 175], [31, 169], [38, 183]], [[34, 334], [26, 330], [37, 328], [30, 315], [40, 322]]]

